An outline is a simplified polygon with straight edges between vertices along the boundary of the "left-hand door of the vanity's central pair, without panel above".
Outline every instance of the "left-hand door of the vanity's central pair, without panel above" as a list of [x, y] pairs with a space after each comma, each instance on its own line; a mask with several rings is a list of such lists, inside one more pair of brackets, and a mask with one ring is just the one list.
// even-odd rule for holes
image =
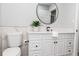
[[42, 40], [42, 55], [54, 55], [54, 44], [52, 40]]

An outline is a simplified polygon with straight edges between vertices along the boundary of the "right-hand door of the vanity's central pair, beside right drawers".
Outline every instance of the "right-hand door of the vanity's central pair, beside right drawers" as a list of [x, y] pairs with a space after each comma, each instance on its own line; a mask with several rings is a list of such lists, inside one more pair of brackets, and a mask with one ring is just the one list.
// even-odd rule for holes
[[62, 56], [65, 53], [64, 40], [55, 40], [55, 56]]

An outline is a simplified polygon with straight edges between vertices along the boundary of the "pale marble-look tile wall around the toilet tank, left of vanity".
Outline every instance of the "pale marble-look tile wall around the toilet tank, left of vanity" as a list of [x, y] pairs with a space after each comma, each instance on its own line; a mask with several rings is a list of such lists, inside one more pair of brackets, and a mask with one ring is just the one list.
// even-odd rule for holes
[[[21, 50], [22, 50], [22, 56], [27, 56], [28, 52], [28, 48], [27, 46], [25, 46], [25, 40], [27, 40], [27, 27], [0, 27], [0, 36], [2, 37], [2, 50], [4, 51], [6, 48], [8, 48], [8, 41], [6, 40], [6, 35], [8, 32], [22, 32], [22, 36], [23, 36], [23, 39], [22, 39], [22, 47], [21, 47]], [[26, 52], [26, 53], [24, 53]]]

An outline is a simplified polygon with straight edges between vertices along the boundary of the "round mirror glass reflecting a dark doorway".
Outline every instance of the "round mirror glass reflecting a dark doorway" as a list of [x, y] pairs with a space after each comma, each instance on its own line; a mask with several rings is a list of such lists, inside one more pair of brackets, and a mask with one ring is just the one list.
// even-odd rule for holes
[[55, 3], [38, 3], [36, 14], [42, 23], [52, 24], [58, 17], [57, 5]]

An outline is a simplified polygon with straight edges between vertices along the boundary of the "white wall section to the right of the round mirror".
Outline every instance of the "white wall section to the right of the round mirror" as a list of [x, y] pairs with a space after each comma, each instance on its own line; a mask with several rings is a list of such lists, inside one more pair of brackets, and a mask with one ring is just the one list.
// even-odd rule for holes
[[58, 19], [55, 22], [57, 28], [74, 28], [75, 24], [75, 4], [61, 3], [57, 4], [59, 9]]

